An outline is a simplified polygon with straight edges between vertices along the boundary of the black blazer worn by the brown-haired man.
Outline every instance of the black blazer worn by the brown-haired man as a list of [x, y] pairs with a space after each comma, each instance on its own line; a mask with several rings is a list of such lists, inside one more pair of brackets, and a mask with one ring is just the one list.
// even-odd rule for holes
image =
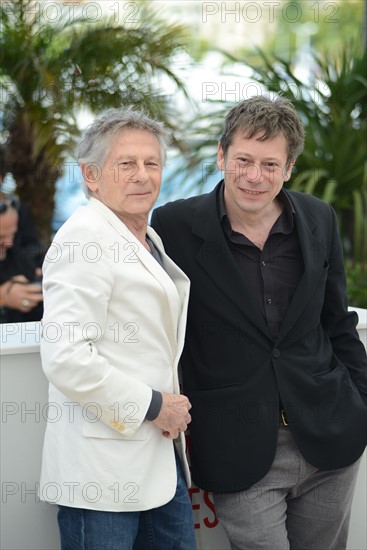
[[367, 359], [348, 312], [333, 209], [287, 192], [304, 273], [279, 337], [270, 338], [226, 244], [220, 184], [154, 211], [166, 252], [191, 280], [183, 390], [192, 403], [192, 475], [210, 491], [240, 491], [270, 468], [279, 394], [306, 460], [321, 469], [356, 461], [367, 443]]

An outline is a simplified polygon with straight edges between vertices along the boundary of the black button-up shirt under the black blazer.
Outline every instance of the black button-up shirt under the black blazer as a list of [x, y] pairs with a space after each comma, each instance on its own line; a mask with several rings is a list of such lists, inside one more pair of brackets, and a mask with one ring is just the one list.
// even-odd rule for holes
[[218, 195], [219, 218], [228, 247], [274, 340], [279, 335], [304, 269], [294, 226], [296, 213], [283, 189], [278, 199], [283, 211], [274, 223], [263, 250], [260, 250], [245, 235], [232, 230], [224, 203], [224, 185]]

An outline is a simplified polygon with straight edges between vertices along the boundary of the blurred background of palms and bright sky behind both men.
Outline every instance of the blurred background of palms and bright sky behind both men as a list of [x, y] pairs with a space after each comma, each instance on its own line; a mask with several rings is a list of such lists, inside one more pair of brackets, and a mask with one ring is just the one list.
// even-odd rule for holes
[[159, 204], [207, 192], [225, 114], [282, 93], [306, 127], [287, 187], [335, 208], [350, 305], [367, 307], [367, 3], [3, 0], [2, 190], [43, 243], [85, 202], [75, 142], [107, 107], [172, 130]]

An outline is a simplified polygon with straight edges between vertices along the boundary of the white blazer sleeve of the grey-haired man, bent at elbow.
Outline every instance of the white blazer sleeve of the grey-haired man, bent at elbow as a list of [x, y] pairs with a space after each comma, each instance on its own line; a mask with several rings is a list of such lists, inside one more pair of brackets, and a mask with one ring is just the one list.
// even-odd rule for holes
[[81, 406], [94, 404], [98, 419], [132, 436], [145, 419], [152, 389], [99, 351], [111, 324], [115, 269], [108, 243], [95, 229], [69, 224], [57, 234], [43, 266], [41, 357], [47, 378], [60, 392]]

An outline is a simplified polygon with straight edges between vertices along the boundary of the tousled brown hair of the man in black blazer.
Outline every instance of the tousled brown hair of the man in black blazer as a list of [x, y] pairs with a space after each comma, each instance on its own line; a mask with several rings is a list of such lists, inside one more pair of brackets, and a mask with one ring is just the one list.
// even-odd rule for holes
[[226, 116], [220, 138], [224, 156], [238, 131], [249, 139], [261, 133], [260, 141], [283, 134], [287, 143], [287, 164], [296, 160], [303, 151], [303, 125], [291, 101], [284, 97], [272, 100], [266, 96], [255, 96], [233, 107]]

